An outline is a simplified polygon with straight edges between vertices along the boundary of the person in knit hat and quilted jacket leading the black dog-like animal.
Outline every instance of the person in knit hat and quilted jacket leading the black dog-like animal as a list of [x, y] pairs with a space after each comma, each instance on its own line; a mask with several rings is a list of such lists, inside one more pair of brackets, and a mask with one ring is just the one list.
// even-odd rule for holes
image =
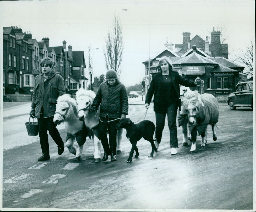
[[[125, 86], [119, 82], [116, 72], [112, 69], [106, 73], [106, 82], [102, 82], [94, 98], [92, 106], [100, 106], [99, 136], [104, 149], [102, 161], [116, 161], [116, 124], [120, 118], [128, 115], [128, 97]], [[109, 134], [109, 144], [107, 138]]]

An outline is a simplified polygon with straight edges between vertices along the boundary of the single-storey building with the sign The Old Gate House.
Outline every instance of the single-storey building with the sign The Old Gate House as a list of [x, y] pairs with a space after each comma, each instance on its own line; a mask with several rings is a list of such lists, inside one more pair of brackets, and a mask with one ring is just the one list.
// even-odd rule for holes
[[[148, 60], [143, 62], [145, 65], [145, 93], [149, 88], [152, 75], [156, 72], [156, 65], [163, 56], [167, 56], [172, 61], [174, 69], [186, 79], [195, 80], [196, 77], [200, 77], [203, 80], [203, 87], [191, 87], [191, 90], [210, 93], [217, 98], [218, 102], [226, 102], [228, 95], [235, 91], [236, 84], [240, 80], [247, 79], [247, 75], [242, 73], [244, 67], [228, 60], [227, 55], [211, 57], [210, 53], [206, 54], [201, 50], [202, 48], [199, 49], [193, 45], [191, 49], [180, 56], [178, 52], [172, 51], [172, 43], [167, 41], [167, 44], [169, 46], [165, 44], [164, 51], [150, 60], [150, 69], [148, 69]], [[209, 50], [209, 41], [206, 38], [204, 50], [207, 51], [207, 48]]]

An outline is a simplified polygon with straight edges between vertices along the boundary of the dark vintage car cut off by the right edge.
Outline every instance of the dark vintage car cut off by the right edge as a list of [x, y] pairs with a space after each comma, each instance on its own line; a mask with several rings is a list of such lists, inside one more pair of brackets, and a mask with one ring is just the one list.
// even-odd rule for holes
[[251, 107], [253, 99], [253, 81], [244, 80], [236, 85], [236, 92], [228, 95], [228, 105], [231, 110], [236, 110], [236, 107]]

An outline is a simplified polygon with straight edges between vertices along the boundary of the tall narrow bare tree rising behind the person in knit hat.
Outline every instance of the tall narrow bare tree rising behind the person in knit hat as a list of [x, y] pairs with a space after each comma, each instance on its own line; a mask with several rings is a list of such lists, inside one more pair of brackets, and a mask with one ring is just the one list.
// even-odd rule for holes
[[108, 31], [108, 37], [106, 38], [104, 56], [106, 68], [115, 70], [118, 77], [121, 74], [120, 65], [122, 62], [123, 49], [122, 26], [119, 17], [114, 15], [112, 29]]

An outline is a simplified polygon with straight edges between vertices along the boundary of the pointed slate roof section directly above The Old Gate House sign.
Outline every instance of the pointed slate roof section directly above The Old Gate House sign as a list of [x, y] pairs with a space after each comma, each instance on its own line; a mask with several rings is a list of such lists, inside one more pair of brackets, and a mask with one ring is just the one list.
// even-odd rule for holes
[[212, 61], [211, 59], [208, 59], [206, 57], [203, 57], [195, 52], [192, 54], [182, 57], [181, 59], [177, 60], [176, 62], [172, 63], [173, 65], [176, 64], [213, 64], [218, 65], [218, 63]]

